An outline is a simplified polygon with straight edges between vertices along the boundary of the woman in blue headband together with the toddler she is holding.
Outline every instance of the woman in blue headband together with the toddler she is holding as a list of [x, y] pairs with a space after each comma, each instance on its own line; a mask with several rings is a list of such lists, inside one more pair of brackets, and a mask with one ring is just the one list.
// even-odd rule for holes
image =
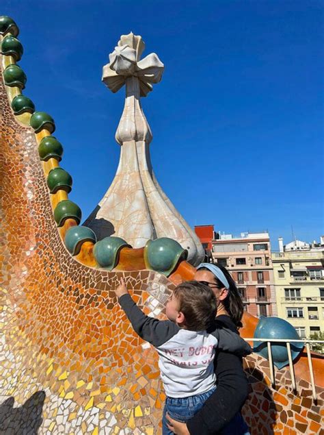
[[141, 312], [123, 282], [116, 290], [135, 332], [159, 353], [167, 394], [163, 435], [248, 434], [237, 413], [247, 395], [240, 356], [251, 351], [237, 334], [241, 298], [229, 273], [214, 264], [200, 264], [195, 279], [176, 287], [165, 308], [167, 321]]

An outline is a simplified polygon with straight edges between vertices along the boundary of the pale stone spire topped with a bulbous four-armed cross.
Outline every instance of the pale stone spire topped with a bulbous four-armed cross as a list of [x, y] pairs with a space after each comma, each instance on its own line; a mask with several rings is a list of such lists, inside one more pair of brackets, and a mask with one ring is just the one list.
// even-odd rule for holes
[[149, 145], [150, 125], [141, 108], [152, 85], [162, 78], [164, 65], [155, 53], [141, 59], [141, 36], [122, 35], [109, 64], [103, 67], [103, 82], [112, 92], [126, 84], [124, 111], [116, 131], [121, 145], [118, 169], [105, 196], [85, 221], [98, 239], [118, 236], [134, 248], [148, 240], [169, 237], [188, 249], [188, 261], [204, 257], [200, 240], [167, 198], [154, 177]]

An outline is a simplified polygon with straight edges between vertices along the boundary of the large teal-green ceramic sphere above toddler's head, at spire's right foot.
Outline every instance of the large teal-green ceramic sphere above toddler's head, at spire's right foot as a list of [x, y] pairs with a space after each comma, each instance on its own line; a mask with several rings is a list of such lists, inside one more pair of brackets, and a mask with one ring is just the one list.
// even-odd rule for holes
[[144, 258], [146, 266], [153, 271], [169, 276], [180, 260], [187, 260], [188, 251], [172, 238], [161, 237], [148, 240]]

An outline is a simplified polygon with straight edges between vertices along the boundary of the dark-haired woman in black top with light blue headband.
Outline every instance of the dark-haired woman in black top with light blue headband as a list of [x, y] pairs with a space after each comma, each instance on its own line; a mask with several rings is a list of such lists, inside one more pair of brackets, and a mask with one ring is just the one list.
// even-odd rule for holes
[[[241, 326], [243, 302], [230, 273], [219, 264], [202, 263], [193, 279], [211, 287], [217, 299], [219, 325], [237, 331]], [[232, 353], [219, 351], [215, 358], [217, 388], [202, 409], [187, 423], [170, 419], [169, 429], [178, 435], [247, 435], [241, 407], [248, 394], [242, 360]]]

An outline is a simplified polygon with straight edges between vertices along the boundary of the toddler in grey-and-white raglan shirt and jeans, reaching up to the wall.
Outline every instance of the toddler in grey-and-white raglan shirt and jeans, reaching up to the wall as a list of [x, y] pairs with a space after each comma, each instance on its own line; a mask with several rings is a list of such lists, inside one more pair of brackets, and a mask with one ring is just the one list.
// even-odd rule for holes
[[129, 295], [124, 280], [116, 289], [120, 306], [135, 332], [159, 353], [159, 369], [165, 394], [166, 413], [186, 422], [202, 408], [215, 390], [215, 349], [245, 356], [251, 347], [235, 332], [213, 325], [216, 299], [211, 288], [197, 281], [179, 284], [165, 306], [166, 321], [146, 316]]

